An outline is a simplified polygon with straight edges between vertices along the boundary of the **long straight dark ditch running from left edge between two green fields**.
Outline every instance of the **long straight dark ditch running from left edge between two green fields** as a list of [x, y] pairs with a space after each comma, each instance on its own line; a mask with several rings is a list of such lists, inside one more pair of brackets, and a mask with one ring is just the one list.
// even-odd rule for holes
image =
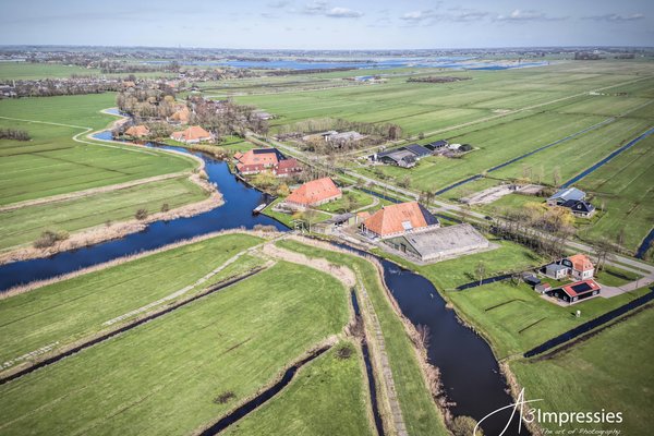
[[150, 315], [148, 315], [148, 316], [146, 316], [144, 318], [136, 319], [136, 320], [134, 320], [134, 322], [132, 322], [132, 323], [130, 323], [130, 324], [128, 324], [125, 326], [122, 326], [122, 327], [120, 327], [120, 328], [118, 328], [116, 330], [109, 331], [109, 332], [104, 334], [104, 335], [101, 335], [101, 336], [99, 336], [97, 338], [94, 338], [92, 340], [83, 342], [83, 343], [81, 343], [78, 346], [75, 346], [75, 347], [69, 349], [69, 350], [64, 350], [64, 351], [60, 352], [59, 354], [52, 355], [52, 356], [50, 356], [48, 359], [45, 359], [45, 360], [43, 360], [40, 362], [35, 363], [32, 366], [28, 366], [26, 368], [17, 371], [17, 372], [15, 372], [13, 374], [9, 374], [7, 376], [0, 376], [0, 385], [4, 385], [5, 383], [9, 383], [11, 380], [15, 380], [16, 378], [20, 378], [20, 377], [23, 377], [24, 375], [33, 373], [36, 370], [39, 370], [39, 368], [43, 368], [45, 366], [51, 365], [53, 363], [57, 363], [57, 362], [59, 362], [60, 360], [62, 360], [64, 358], [68, 358], [70, 355], [73, 355], [73, 354], [82, 351], [82, 350], [85, 350], [85, 349], [90, 348], [93, 346], [96, 346], [96, 344], [98, 344], [100, 342], [104, 342], [107, 339], [113, 338], [114, 336], [118, 336], [120, 334], [129, 331], [129, 330], [131, 330], [131, 329], [133, 329], [135, 327], [141, 326], [142, 324], [145, 324], [145, 323], [150, 322], [153, 319], [156, 319], [156, 318], [158, 318], [160, 316], [164, 316], [164, 315], [166, 315], [166, 314], [168, 314], [168, 313], [170, 313], [170, 312], [172, 312], [172, 311], [174, 311], [177, 308], [183, 307], [186, 304], [190, 304], [190, 303], [192, 303], [192, 302], [194, 302], [196, 300], [199, 300], [203, 296], [210, 295], [214, 292], [217, 292], [217, 291], [219, 291], [221, 289], [225, 289], [227, 287], [235, 284], [235, 283], [238, 283], [241, 280], [244, 280], [244, 279], [246, 279], [249, 277], [254, 276], [255, 274], [258, 274], [258, 272], [263, 271], [264, 269], [266, 269], [266, 268], [265, 267], [258, 267], [258, 268], [255, 268], [252, 271], [246, 272], [244, 275], [241, 275], [241, 276], [234, 277], [232, 279], [228, 279], [226, 281], [222, 281], [220, 283], [214, 284], [213, 287], [207, 288], [203, 292], [198, 293], [195, 296], [190, 298], [189, 300], [180, 301], [180, 302], [178, 302], [178, 303], [175, 303], [175, 304], [173, 304], [173, 305], [171, 305], [169, 307], [166, 307], [165, 310], [161, 310], [159, 312], [153, 313], [153, 314], [150, 314]]

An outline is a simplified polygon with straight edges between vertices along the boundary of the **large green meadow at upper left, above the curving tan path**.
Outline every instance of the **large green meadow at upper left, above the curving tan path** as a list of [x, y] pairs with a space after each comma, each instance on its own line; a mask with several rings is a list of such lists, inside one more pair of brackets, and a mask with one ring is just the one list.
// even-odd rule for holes
[[[0, 117], [102, 129], [114, 117], [112, 94], [21, 98], [0, 101]], [[26, 130], [32, 141], [0, 141], [0, 205], [191, 171], [191, 158], [133, 146], [81, 144], [83, 129], [0, 118], [0, 128]]]

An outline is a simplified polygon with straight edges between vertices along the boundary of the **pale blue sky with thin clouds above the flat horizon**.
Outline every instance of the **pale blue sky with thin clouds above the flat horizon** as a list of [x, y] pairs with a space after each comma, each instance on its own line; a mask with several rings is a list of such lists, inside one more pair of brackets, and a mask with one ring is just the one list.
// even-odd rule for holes
[[0, 44], [209, 48], [654, 46], [654, 0], [0, 0]]

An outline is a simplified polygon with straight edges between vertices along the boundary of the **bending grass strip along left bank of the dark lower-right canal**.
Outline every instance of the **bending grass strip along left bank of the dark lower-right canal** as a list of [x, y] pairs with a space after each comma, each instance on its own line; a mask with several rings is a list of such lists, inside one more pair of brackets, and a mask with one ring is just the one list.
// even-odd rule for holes
[[279, 241], [277, 245], [310, 257], [323, 257], [337, 265], [347, 265], [355, 270], [379, 318], [407, 431], [410, 435], [447, 435], [443, 416], [424, 384], [411, 339], [388, 303], [376, 268], [360, 257], [316, 249], [295, 241]]

